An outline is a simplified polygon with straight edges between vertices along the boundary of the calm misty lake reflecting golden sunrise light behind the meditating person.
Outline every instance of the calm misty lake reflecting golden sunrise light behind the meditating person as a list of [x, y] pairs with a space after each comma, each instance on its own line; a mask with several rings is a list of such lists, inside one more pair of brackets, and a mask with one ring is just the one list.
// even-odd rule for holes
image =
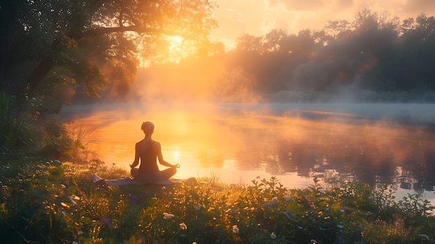
[[106, 165], [129, 168], [142, 122], [154, 122], [176, 178], [250, 184], [275, 176], [288, 188], [340, 177], [422, 193], [435, 205], [434, 104], [136, 103], [63, 108], [69, 129], [90, 138]]

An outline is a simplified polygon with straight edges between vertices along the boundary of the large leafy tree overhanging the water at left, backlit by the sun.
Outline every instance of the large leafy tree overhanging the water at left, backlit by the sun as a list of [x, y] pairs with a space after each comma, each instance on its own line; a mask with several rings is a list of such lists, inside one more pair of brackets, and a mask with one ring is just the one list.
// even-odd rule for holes
[[0, 89], [18, 100], [76, 90], [98, 96], [110, 81], [132, 82], [138, 65], [165, 60], [170, 36], [197, 51], [216, 26], [214, 7], [208, 0], [4, 1]]

